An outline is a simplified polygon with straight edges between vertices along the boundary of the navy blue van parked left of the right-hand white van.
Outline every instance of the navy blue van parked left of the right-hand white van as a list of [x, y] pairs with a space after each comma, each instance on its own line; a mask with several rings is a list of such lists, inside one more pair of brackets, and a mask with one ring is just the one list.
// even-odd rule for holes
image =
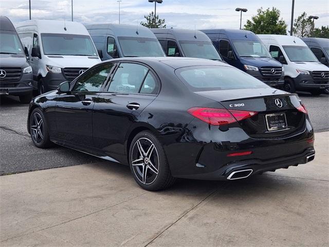
[[282, 64], [273, 59], [263, 42], [251, 31], [236, 29], [201, 30], [207, 34], [223, 59], [264, 83], [284, 84]]

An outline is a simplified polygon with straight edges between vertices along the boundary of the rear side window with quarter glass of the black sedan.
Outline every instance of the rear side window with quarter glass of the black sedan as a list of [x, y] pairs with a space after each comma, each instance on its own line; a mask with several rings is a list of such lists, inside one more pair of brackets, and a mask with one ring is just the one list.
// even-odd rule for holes
[[149, 68], [136, 63], [120, 63], [109, 84], [108, 92], [156, 94], [158, 84]]

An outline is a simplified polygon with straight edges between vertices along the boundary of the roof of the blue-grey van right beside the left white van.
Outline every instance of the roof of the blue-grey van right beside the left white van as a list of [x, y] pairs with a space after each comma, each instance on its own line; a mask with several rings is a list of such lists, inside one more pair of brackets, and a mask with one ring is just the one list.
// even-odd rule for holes
[[[140, 37], [156, 39], [153, 32], [147, 27], [127, 24], [90, 24], [85, 26], [90, 34], [108, 35], [116, 37]], [[137, 34], [138, 33], [138, 34]]]

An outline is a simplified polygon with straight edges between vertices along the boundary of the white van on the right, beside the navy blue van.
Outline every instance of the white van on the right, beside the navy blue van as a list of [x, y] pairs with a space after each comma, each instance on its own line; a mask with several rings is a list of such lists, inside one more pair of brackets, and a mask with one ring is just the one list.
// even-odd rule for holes
[[283, 64], [284, 90], [306, 91], [319, 95], [329, 87], [329, 68], [321, 64], [299, 38], [286, 35], [258, 34], [271, 56]]

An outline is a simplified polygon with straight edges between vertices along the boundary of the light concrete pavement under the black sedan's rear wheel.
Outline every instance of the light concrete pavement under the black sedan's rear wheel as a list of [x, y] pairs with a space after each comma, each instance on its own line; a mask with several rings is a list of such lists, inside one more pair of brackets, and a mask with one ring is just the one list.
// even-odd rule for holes
[[0, 177], [1, 246], [328, 246], [329, 132], [311, 163], [138, 187], [111, 162]]

